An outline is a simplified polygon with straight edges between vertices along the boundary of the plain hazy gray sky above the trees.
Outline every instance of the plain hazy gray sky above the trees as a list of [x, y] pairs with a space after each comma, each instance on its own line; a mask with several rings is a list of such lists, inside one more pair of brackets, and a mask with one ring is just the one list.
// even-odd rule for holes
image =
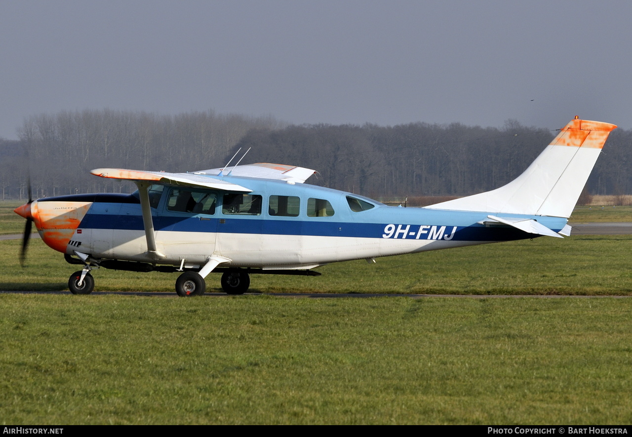
[[0, 137], [75, 109], [632, 128], [629, 1], [0, 2]]

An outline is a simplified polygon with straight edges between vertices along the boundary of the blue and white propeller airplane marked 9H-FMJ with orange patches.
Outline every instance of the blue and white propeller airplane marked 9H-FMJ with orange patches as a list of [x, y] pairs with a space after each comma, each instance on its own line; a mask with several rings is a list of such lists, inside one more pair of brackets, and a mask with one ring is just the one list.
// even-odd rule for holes
[[[98, 168], [130, 180], [132, 194], [29, 199], [15, 209], [42, 240], [82, 265], [70, 291], [94, 289], [91, 271], [179, 272], [176, 293], [202, 295], [222, 273], [228, 294], [243, 294], [250, 274], [304, 274], [331, 262], [411, 254], [540, 236], [569, 236], [568, 218], [616, 125], [580, 120], [562, 128], [512, 182], [426, 207], [386, 206], [361, 195], [304, 183], [315, 171], [284, 164], [167, 173]], [[235, 154], [236, 156], [236, 154]], [[233, 156], [234, 158], [234, 156]], [[242, 156], [243, 159], [243, 156]]]

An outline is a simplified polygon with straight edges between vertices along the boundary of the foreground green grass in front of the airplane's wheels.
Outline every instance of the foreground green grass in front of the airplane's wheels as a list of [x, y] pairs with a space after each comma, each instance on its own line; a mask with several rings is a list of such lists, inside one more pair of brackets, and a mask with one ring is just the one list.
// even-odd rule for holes
[[0, 295], [3, 424], [628, 424], [629, 299]]

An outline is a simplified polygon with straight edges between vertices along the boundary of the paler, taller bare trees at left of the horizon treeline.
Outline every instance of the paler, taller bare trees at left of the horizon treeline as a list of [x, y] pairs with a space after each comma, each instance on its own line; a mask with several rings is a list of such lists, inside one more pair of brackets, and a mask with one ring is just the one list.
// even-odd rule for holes
[[283, 126], [272, 117], [213, 111], [176, 116], [108, 109], [40, 114], [18, 128], [17, 144], [0, 145], [0, 187], [3, 199], [24, 199], [30, 175], [34, 197], [125, 192], [132, 187], [129, 182], [97, 178], [90, 170], [179, 172], [221, 166], [249, 130]]

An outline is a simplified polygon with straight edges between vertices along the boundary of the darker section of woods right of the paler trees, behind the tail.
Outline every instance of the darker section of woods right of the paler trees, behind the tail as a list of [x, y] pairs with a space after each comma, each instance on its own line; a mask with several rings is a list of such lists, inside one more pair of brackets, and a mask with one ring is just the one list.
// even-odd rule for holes
[[[313, 168], [319, 185], [369, 197], [463, 196], [516, 178], [557, 133], [516, 120], [502, 128], [310, 125], [252, 130], [236, 147], [252, 147], [250, 161]], [[597, 160], [588, 192], [632, 193], [631, 163], [632, 131], [617, 129]]]

